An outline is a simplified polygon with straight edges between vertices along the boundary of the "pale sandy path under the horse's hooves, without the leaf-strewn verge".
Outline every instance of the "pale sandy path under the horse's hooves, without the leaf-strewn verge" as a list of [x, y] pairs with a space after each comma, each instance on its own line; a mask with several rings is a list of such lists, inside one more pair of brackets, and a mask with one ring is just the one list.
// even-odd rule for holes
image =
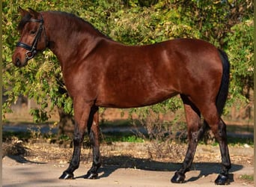
[[[80, 165], [75, 171], [76, 180], [58, 180], [59, 175], [67, 168], [67, 164], [58, 165], [55, 163], [21, 163], [16, 157], [5, 156], [2, 160], [2, 184], [3, 186], [215, 186], [216, 172], [219, 165], [214, 166], [207, 163], [195, 163], [197, 169], [186, 174], [186, 183], [172, 184], [170, 178], [173, 171], [147, 171], [135, 168], [120, 168], [107, 165], [100, 168], [100, 179], [85, 180], [83, 175], [90, 165]], [[253, 174], [252, 166], [234, 165], [231, 169], [231, 186], [253, 186], [239, 180], [242, 174]]]

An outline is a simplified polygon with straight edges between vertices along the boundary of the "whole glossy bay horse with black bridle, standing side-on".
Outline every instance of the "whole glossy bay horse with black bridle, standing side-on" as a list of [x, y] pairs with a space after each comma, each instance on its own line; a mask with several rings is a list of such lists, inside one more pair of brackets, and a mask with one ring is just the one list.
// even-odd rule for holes
[[189, 146], [183, 165], [171, 182], [184, 182], [198, 140], [210, 127], [222, 156], [222, 168], [215, 183], [229, 183], [231, 160], [226, 125], [221, 118], [228, 96], [230, 71], [225, 52], [196, 39], [126, 46], [70, 13], [37, 12], [21, 7], [19, 12], [22, 16], [18, 25], [21, 37], [13, 52], [13, 64], [24, 67], [37, 51], [49, 48], [61, 64], [64, 84], [73, 99], [76, 123], [73, 156], [59, 179], [73, 179], [73, 172], [79, 168], [86, 129], [92, 145], [93, 163], [85, 178], [97, 177], [102, 163], [99, 107], [141, 107], [180, 94], [186, 112]]

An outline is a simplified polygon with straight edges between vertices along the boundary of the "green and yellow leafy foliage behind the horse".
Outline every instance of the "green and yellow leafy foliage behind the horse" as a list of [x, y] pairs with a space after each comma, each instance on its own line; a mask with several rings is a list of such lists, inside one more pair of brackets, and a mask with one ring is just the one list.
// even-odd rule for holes
[[[61, 10], [74, 13], [91, 22], [103, 34], [128, 45], [142, 45], [176, 37], [195, 37], [225, 49], [231, 61], [231, 93], [229, 103], [237, 99], [248, 102], [248, 89], [253, 89], [253, 3], [234, 1], [164, 1], [164, 0], [94, 0], [94, 1], [25, 1], [3, 2], [3, 85], [7, 96], [3, 110], [18, 96], [34, 98], [40, 108], [31, 110], [34, 120], [47, 120], [57, 105], [72, 113], [72, 100], [61, 81], [61, 68], [55, 55], [46, 50], [22, 69], [11, 64], [11, 56], [19, 33], [18, 6], [35, 10]], [[51, 103], [51, 105], [47, 105]], [[147, 117], [150, 112], [176, 111], [182, 106], [179, 99], [168, 99], [130, 112]]]

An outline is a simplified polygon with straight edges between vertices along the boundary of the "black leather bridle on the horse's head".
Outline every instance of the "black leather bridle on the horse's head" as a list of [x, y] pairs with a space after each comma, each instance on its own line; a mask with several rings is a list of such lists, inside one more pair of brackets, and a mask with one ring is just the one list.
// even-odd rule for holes
[[[34, 37], [34, 41], [32, 43], [32, 46], [28, 46], [28, 44], [25, 44], [25, 43], [22, 43], [22, 42], [16, 43], [16, 46], [19, 46], [19, 47], [22, 47], [22, 48], [28, 50], [28, 52], [25, 53], [26, 60], [30, 60], [31, 58], [34, 58], [34, 55], [37, 53], [37, 42], [38, 42], [38, 40], [40, 40], [40, 36], [41, 36], [42, 31], [43, 31], [43, 16], [41, 15], [41, 19], [31, 18], [31, 19], [29, 19], [28, 22], [39, 22], [40, 25], [39, 25], [39, 28], [37, 30], [37, 34]], [[47, 44], [46, 44], [46, 46], [47, 46]]]

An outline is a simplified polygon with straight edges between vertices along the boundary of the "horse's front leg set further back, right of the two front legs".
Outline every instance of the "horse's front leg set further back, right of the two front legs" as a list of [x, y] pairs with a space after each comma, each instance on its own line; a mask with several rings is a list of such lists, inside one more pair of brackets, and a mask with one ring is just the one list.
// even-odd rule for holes
[[100, 157], [99, 111], [98, 107], [96, 106], [91, 110], [91, 114], [88, 120], [88, 133], [93, 152], [93, 164], [84, 178], [96, 179], [98, 177], [97, 170], [102, 164]]

